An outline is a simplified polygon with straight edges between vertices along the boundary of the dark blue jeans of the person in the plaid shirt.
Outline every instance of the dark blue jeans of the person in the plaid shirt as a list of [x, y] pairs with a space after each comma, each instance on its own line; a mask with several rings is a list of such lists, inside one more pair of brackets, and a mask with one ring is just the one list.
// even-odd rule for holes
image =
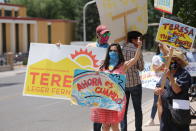
[[129, 106], [129, 98], [131, 95], [131, 99], [133, 102], [133, 108], [135, 111], [135, 128], [136, 131], [142, 131], [142, 86], [137, 85], [134, 87], [130, 88], [125, 88], [125, 94], [127, 98], [127, 103], [126, 103], [126, 110], [125, 110], [125, 115], [124, 115], [124, 120], [120, 123], [121, 126], [121, 131], [127, 131], [127, 111], [128, 111], [128, 106]]

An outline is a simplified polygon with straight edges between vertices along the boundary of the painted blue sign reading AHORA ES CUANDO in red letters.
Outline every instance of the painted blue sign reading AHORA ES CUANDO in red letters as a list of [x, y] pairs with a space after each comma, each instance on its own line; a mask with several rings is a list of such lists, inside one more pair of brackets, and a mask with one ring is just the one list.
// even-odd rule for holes
[[76, 69], [72, 102], [81, 106], [121, 111], [126, 102], [125, 75]]

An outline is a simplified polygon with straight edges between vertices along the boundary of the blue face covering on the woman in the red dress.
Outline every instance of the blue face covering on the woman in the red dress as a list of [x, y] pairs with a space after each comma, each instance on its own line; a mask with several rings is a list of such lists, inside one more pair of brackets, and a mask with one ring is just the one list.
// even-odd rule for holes
[[118, 64], [119, 62], [119, 56], [118, 53], [115, 51], [110, 51], [109, 52], [109, 57], [110, 57], [110, 61], [109, 61], [109, 70], [113, 70], [114, 67]]

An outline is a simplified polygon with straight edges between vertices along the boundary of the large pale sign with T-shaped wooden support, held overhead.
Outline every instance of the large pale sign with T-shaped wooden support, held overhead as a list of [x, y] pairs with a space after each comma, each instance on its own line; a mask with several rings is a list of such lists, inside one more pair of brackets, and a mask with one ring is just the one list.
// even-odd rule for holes
[[110, 42], [125, 41], [128, 31], [145, 34], [148, 28], [147, 0], [95, 0], [101, 24], [111, 31]]

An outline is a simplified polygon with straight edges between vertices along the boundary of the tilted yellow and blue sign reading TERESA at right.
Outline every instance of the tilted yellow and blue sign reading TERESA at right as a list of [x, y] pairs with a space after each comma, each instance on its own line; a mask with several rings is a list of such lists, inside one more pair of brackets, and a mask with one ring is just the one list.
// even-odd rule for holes
[[162, 17], [156, 41], [183, 51], [189, 51], [192, 48], [195, 35], [194, 27]]

